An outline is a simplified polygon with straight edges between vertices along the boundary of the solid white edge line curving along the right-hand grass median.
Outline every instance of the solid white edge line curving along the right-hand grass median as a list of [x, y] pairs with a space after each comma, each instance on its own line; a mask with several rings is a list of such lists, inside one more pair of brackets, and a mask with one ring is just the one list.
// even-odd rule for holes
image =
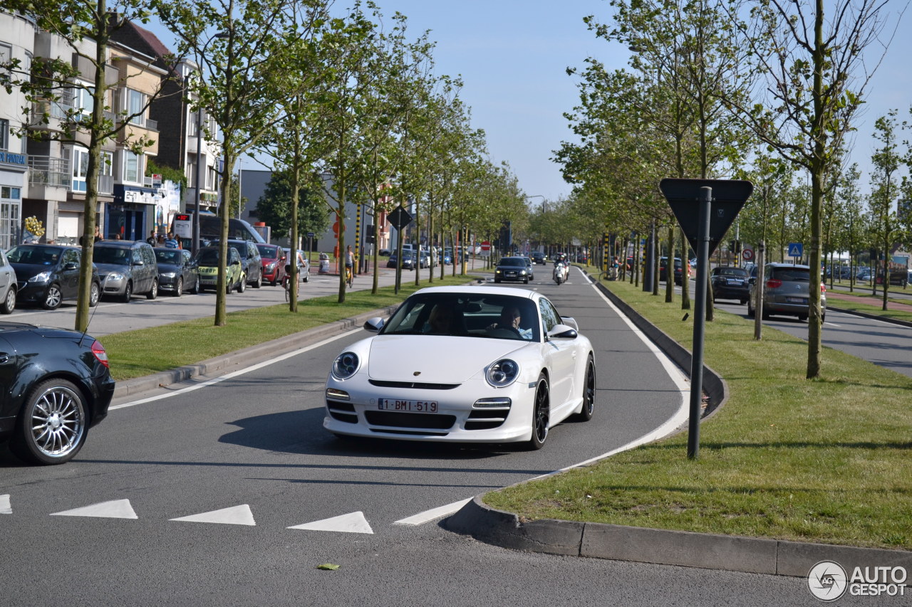
[[[583, 271], [580, 270], [579, 268], [576, 268], [576, 270], [579, 271], [579, 273], [583, 273]], [[584, 274], [584, 278], [585, 278], [585, 274]], [[628, 449], [639, 447], [640, 445], [645, 445], [646, 443], [650, 443], [654, 440], [658, 440], [659, 438], [667, 437], [669, 434], [671, 434], [672, 432], [677, 430], [679, 427], [681, 427], [681, 425], [684, 424], [684, 422], [686, 422], [688, 420], [688, 417], [690, 415], [689, 405], [688, 405], [689, 396], [690, 396], [690, 380], [689, 380], [688, 376], [686, 376], [684, 374], [684, 372], [680, 369], [680, 367], [678, 365], [675, 365], [675, 363], [670, 358], [668, 358], [668, 356], [665, 355], [664, 352], [662, 352], [658, 348], [658, 345], [655, 345], [651, 341], [649, 341], [649, 338], [646, 336], [646, 334], [644, 334], [642, 331], [640, 331], [637, 328], [637, 325], [633, 324], [633, 321], [631, 321], [629, 318], [627, 318], [627, 316], [624, 313], [622, 313], [615, 304], [612, 304], [611, 300], [609, 300], [601, 291], [598, 290], [595, 283], [592, 283], [592, 288], [596, 291], [596, 293], [598, 293], [598, 296], [601, 297], [605, 301], [606, 304], [608, 304], [608, 307], [610, 307], [612, 310], [614, 310], [617, 313], [617, 315], [625, 323], [627, 323], [627, 326], [630, 328], [630, 330], [634, 334], [636, 334], [637, 337], [639, 337], [640, 341], [642, 341], [643, 344], [646, 345], [646, 347], [648, 347], [649, 351], [652, 352], [653, 355], [656, 356], [656, 358], [658, 359], [658, 362], [661, 363], [661, 365], [665, 368], [665, 372], [668, 373], [668, 377], [671, 379], [672, 382], [674, 382], [675, 386], [678, 386], [678, 390], [680, 393], [680, 405], [678, 406], [678, 410], [675, 411], [671, 415], [671, 417], [668, 417], [668, 419], [661, 426], [657, 427], [656, 429], [649, 432], [648, 434], [643, 435], [642, 437], [638, 437], [638, 438], [631, 440], [629, 443], [627, 443], [627, 445], [623, 445], [616, 449], [612, 449], [611, 451], [608, 451], [607, 453], [603, 453], [600, 456], [596, 456], [595, 458], [586, 459], [586, 461], [581, 461], [578, 464], [573, 464], [571, 466], [567, 466], [566, 468], [561, 468], [559, 470], [554, 470], [552, 472], [547, 472], [547, 473], [539, 475], [537, 477], [530, 478], [529, 480], [534, 480], [535, 478], [550, 477], [550, 476], [553, 476], [554, 474], [564, 472], [565, 470], [569, 470], [571, 468], [580, 468], [582, 466], [587, 466], [588, 464], [596, 462], [599, 459], [608, 458], [610, 456], [615, 455], [616, 453], [620, 453], [621, 451], [627, 451]], [[461, 509], [464, 504], [466, 504], [467, 502], [469, 502], [471, 500], [472, 500], [472, 498], [462, 499], [461, 501], [453, 502], [447, 506], [440, 506], [439, 508], [425, 510], [424, 512], [420, 512], [416, 515], [410, 516], [408, 519], [397, 520], [393, 524], [398, 523], [398, 524], [404, 524], [404, 525], [420, 525], [422, 523], [429, 522], [430, 520], [439, 519], [440, 517], [451, 515], [451, 514], [455, 513], [456, 511], [458, 511], [459, 509]]]

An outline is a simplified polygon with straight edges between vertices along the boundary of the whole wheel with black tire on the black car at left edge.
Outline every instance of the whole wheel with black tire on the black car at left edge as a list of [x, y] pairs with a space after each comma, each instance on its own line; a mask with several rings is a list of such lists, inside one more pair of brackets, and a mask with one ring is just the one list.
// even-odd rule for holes
[[54, 378], [27, 396], [10, 448], [28, 462], [63, 464], [82, 448], [87, 433], [88, 414], [82, 394], [67, 380]]

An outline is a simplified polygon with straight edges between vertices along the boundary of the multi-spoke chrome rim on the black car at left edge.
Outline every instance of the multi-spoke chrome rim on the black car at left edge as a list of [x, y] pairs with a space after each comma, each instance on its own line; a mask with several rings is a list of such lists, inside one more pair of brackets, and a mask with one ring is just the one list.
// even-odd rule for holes
[[86, 431], [82, 401], [67, 387], [53, 386], [38, 396], [32, 407], [31, 437], [35, 448], [48, 458], [63, 458], [78, 448]]

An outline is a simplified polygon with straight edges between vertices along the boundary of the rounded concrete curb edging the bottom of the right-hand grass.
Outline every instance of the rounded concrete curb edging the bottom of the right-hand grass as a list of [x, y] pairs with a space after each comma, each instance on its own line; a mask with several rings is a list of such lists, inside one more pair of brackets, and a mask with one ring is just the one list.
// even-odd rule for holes
[[485, 543], [530, 552], [613, 561], [648, 562], [724, 571], [806, 576], [820, 561], [836, 561], [846, 571], [855, 567], [912, 569], [912, 552], [855, 548], [800, 541], [769, 540], [625, 527], [572, 520], [523, 521], [472, 499], [444, 526]]

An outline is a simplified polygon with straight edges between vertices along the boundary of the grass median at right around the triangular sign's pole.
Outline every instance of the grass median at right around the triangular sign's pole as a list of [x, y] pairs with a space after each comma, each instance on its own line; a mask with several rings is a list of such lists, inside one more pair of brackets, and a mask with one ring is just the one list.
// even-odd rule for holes
[[[606, 284], [690, 347], [679, 300]], [[806, 356], [802, 340], [764, 326], [756, 342], [752, 321], [717, 310], [705, 361], [731, 396], [701, 426], [699, 459], [683, 433], [484, 501], [528, 519], [912, 550], [912, 378], [824, 348], [811, 381]]]

